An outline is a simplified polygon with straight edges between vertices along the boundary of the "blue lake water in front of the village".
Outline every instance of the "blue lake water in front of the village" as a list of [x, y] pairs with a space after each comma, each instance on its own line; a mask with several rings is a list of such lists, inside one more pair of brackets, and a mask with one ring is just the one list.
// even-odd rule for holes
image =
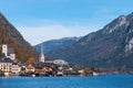
[[100, 77], [1, 77], [0, 88], [133, 88], [133, 75]]

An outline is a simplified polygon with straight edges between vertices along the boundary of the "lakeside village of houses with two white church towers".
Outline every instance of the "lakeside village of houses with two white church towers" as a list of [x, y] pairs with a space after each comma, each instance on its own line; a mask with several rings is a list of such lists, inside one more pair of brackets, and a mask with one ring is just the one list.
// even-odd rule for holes
[[[0, 56], [0, 76], [22, 76], [22, 77], [57, 77], [57, 76], [98, 76], [98, 69], [85, 68], [79, 65], [71, 65], [63, 59], [45, 59], [43, 50], [35, 63], [18, 63], [13, 48], [2, 45], [2, 56]], [[30, 59], [32, 61], [32, 58]]]

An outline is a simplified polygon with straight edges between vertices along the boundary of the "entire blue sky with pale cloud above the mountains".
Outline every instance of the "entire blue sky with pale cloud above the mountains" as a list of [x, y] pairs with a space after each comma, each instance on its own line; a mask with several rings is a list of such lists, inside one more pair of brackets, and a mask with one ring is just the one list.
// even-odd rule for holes
[[84, 36], [121, 14], [133, 12], [132, 0], [0, 0], [0, 12], [31, 45]]

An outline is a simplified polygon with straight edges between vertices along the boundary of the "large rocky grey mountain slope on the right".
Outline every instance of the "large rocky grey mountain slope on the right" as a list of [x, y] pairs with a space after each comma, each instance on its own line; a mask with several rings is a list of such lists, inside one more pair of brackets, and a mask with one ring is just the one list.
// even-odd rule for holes
[[103, 29], [48, 56], [88, 67], [133, 69], [133, 13], [116, 18]]

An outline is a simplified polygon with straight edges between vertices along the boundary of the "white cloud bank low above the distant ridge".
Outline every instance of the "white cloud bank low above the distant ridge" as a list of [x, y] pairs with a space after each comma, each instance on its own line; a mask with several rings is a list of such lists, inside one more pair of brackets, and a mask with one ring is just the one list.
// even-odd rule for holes
[[90, 26], [64, 26], [64, 25], [44, 25], [44, 26], [18, 26], [23, 37], [32, 45], [48, 40], [83, 36], [94, 30]]

